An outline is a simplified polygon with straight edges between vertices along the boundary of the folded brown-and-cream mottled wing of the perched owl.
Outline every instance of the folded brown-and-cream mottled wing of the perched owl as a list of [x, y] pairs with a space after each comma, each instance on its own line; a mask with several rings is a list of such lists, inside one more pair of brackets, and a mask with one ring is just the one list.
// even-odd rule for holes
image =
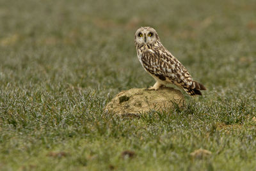
[[145, 70], [160, 80], [189, 87], [193, 80], [186, 68], [172, 54], [164, 49], [149, 49], [141, 54]]

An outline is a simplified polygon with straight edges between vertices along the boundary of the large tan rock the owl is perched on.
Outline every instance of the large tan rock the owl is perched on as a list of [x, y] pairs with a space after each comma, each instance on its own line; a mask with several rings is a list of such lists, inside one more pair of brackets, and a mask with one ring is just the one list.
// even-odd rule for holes
[[157, 91], [146, 88], [129, 89], [117, 94], [108, 103], [105, 111], [119, 115], [140, 114], [150, 110], [173, 108], [175, 103], [182, 107], [184, 96], [172, 87], [161, 87]]

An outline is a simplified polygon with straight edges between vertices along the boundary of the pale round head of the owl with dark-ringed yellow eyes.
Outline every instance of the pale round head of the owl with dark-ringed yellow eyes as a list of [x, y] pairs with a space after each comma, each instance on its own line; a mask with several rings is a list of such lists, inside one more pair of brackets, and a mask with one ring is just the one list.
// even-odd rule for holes
[[152, 44], [159, 40], [156, 30], [152, 27], [140, 27], [135, 33], [135, 43], [141, 44]]

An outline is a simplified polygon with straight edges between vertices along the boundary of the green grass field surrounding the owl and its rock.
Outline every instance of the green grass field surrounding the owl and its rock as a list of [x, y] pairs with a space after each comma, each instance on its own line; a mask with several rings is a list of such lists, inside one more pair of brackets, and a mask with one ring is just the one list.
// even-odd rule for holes
[[[106, 115], [115, 94], [154, 84], [140, 26], [207, 91]], [[255, 38], [254, 0], [0, 1], [0, 170], [255, 170]]]

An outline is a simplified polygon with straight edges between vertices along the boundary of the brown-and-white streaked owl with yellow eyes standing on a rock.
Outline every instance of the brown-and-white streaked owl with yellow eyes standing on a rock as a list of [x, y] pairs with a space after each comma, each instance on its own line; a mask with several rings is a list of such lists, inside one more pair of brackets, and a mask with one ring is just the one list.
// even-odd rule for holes
[[140, 27], [134, 43], [141, 65], [156, 80], [149, 90], [174, 84], [190, 96], [202, 96], [201, 91], [206, 90], [204, 85], [194, 81], [188, 70], [162, 45], [154, 28]]

